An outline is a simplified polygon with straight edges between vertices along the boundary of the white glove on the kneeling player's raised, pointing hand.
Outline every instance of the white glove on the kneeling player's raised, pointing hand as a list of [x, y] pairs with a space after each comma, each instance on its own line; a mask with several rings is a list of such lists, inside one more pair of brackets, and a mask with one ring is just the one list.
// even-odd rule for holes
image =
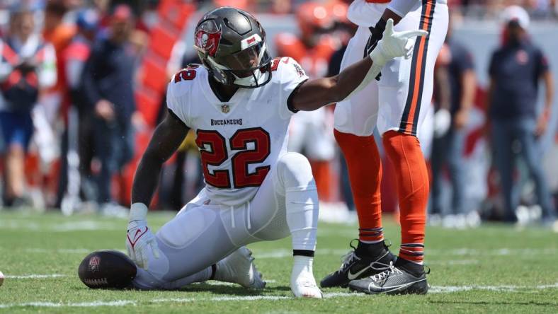
[[387, 20], [382, 40], [378, 42], [374, 50], [370, 52], [370, 58], [375, 66], [383, 66], [389, 60], [397, 57], [409, 59], [413, 54], [415, 36], [426, 36], [426, 30], [405, 30], [395, 32], [393, 30], [393, 20]]

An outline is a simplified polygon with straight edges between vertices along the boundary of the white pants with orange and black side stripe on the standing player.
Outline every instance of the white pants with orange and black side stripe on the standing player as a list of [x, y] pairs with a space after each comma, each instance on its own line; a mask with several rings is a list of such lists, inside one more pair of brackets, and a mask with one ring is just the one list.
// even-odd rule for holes
[[[428, 35], [416, 37], [410, 59], [399, 57], [387, 62], [382, 68], [380, 81], [373, 80], [350, 99], [337, 103], [335, 129], [357, 136], [370, 136], [377, 127], [380, 135], [397, 131], [421, 139], [421, 127], [431, 107], [434, 64], [448, 30], [448, 6], [445, 2], [425, 0], [422, 6], [417, 6], [415, 11], [409, 12], [395, 25], [394, 29], [399, 32], [421, 29], [427, 30]], [[363, 15], [367, 21], [373, 23], [380, 19], [385, 7], [385, 4], [358, 4], [358, 8], [365, 11]], [[341, 69], [363, 59], [368, 37], [368, 27], [359, 26], [348, 42]]]

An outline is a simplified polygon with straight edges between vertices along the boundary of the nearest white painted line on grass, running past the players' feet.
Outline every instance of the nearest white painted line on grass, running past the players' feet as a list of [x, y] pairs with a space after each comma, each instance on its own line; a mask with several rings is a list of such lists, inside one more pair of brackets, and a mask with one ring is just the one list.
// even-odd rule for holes
[[[523, 291], [540, 291], [544, 289], [558, 289], [558, 282], [555, 284], [546, 284], [540, 286], [432, 286], [428, 293], [455, 293], [472, 290], [500, 291], [500, 292], [523, 292]], [[324, 298], [347, 298], [347, 297], [369, 297], [363, 293], [351, 292], [333, 292], [324, 293]], [[138, 303], [190, 303], [190, 302], [224, 302], [224, 301], [280, 301], [293, 300], [292, 296], [215, 296], [212, 298], [154, 298], [151, 300], [115, 300], [115, 301], [91, 301], [79, 303], [62, 303], [49, 301], [35, 301], [25, 303], [7, 303], [1, 304], [0, 308], [18, 308], [18, 307], [38, 307], [38, 308], [96, 308], [101, 306], [137, 306]]]

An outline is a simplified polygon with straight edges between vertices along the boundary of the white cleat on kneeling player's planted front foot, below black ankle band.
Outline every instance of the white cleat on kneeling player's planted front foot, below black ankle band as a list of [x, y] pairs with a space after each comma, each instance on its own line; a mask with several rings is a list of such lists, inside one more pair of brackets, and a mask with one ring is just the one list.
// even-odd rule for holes
[[322, 297], [312, 273], [312, 260], [312, 257], [295, 256], [290, 276], [290, 290], [297, 298]]

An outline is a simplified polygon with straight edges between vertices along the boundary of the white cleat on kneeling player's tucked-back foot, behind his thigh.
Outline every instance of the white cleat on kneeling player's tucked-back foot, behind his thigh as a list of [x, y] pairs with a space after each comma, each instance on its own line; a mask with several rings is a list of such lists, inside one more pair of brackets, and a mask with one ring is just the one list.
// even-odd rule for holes
[[232, 282], [249, 289], [266, 287], [266, 281], [261, 279], [261, 272], [256, 269], [251, 250], [244, 246], [217, 262], [214, 279]]

